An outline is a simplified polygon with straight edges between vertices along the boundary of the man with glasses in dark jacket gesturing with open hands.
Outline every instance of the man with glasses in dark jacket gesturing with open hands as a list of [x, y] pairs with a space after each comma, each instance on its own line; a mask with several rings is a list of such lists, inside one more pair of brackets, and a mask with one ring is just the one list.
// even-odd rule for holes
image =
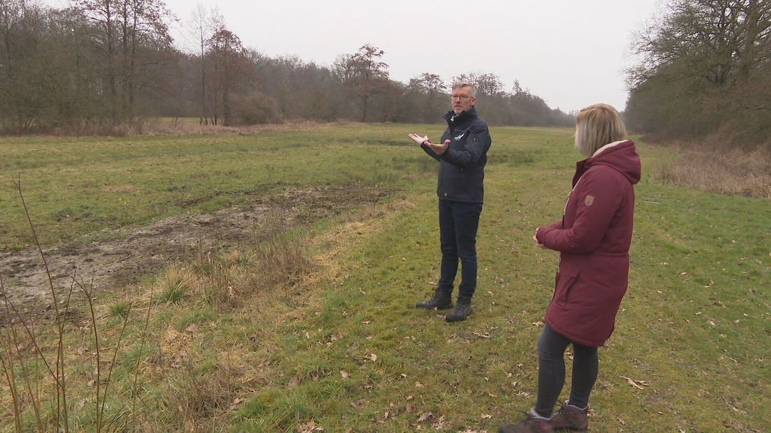
[[423, 150], [439, 161], [439, 240], [442, 270], [436, 292], [416, 307], [438, 310], [453, 308], [453, 284], [462, 265], [458, 302], [446, 315], [450, 322], [463, 321], [471, 314], [476, 290], [476, 228], [483, 202], [484, 166], [492, 140], [487, 123], [476, 115], [476, 90], [470, 82], [453, 84], [452, 111], [444, 119], [447, 129], [439, 143], [410, 134]]

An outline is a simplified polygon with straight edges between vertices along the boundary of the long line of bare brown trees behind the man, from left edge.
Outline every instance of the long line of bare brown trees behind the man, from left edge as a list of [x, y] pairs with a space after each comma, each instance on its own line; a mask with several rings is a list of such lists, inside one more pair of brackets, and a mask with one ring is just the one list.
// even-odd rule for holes
[[[448, 83], [423, 72], [391, 79], [370, 44], [332, 65], [271, 58], [245, 47], [216, 11], [200, 5], [187, 22], [197, 45], [178, 49], [163, 0], [72, 0], [52, 8], [0, 0], [0, 129], [45, 132], [120, 126], [147, 117], [194, 117], [214, 125], [312, 120], [435, 123], [449, 107]], [[493, 73], [474, 82], [489, 123], [568, 126], [518, 82]]]

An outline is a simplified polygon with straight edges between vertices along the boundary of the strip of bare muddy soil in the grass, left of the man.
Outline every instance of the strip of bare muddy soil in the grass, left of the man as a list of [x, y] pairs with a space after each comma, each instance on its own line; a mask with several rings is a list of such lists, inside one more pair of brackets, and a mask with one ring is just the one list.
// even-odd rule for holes
[[[374, 203], [387, 193], [365, 186], [284, 188], [278, 196], [261, 197], [240, 209], [171, 217], [134, 230], [125, 239], [49, 250], [45, 260], [62, 301], [73, 276], [87, 284], [93, 280], [96, 292], [117, 290], [169, 263], [254, 244], [290, 227]], [[0, 275], [17, 308], [51, 307], [48, 276], [37, 249], [0, 256]]]

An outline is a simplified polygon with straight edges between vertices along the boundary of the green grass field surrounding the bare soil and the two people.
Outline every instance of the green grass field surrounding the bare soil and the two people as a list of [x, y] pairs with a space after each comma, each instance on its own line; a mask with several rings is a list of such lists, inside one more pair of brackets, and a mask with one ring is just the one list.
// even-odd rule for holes
[[[44, 247], [244, 206], [285, 186], [391, 192], [99, 294], [98, 380], [81, 302], [64, 344], [70, 431], [471, 432], [521, 418], [534, 404], [535, 344], [557, 267], [557, 253], [530, 237], [561, 216], [579, 159], [572, 131], [491, 130], [475, 312], [458, 324], [413, 307], [435, 287], [439, 247], [436, 163], [409, 132], [441, 130], [0, 139], [5, 253], [32, 247], [12, 186], [19, 177]], [[639, 149], [630, 287], [600, 351], [591, 429], [767, 431], [771, 202], [654, 183], [646, 173], [662, 151]], [[113, 365], [124, 323], [98, 421], [95, 382]], [[40, 329], [52, 357], [52, 330]], [[35, 356], [19, 357], [19, 392], [23, 377], [39, 384], [40, 418], [52, 429], [50, 380]], [[0, 429], [14, 431], [10, 387], [0, 383]], [[24, 400], [22, 424], [34, 430]]]

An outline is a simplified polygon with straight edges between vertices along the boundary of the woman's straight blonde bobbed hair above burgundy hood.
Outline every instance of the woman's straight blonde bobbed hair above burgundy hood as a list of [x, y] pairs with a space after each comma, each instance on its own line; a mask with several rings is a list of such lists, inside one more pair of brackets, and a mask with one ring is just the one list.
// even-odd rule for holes
[[618, 111], [608, 104], [594, 104], [576, 116], [576, 147], [591, 158], [597, 149], [626, 138], [626, 126]]

